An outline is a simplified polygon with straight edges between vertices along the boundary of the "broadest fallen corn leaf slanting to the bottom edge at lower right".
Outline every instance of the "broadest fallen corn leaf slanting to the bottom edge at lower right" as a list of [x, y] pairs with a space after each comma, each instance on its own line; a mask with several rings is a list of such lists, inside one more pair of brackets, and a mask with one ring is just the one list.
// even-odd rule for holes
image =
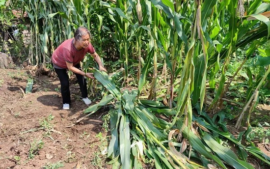
[[239, 160], [237, 155], [227, 147], [220, 145], [209, 134], [203, 136], [206, 144], [215, 152], [222, 160], [235, 169], [254, 169], [249, 163]]

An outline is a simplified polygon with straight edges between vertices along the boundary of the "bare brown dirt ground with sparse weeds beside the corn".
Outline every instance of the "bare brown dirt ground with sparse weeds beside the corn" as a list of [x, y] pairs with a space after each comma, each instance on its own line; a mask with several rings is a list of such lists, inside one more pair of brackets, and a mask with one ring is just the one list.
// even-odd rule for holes
[[35, 78], [24, 96], [28, 77], [25, 70], [0, 69], [0, 169], [109, 168], [100, 153], [107, 144], [104, 112], [66, 128], [85, 115], [79, 85], [71, 85], [71, 110], [65, 111], [57, 78]]

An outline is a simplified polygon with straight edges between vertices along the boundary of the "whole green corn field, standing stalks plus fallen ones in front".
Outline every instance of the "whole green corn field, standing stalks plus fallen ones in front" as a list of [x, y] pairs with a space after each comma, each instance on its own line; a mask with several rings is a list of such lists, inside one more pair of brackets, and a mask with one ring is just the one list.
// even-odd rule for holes
[[[270, 165], [270, 157], [251, 141], [242, 144], [243, 138], [249, 141], [250, 114], [270, 82], [269, 49], [264, 47], [270, 35], [269, 0], [22, 0], [22, 4], [30, 18], [31, 64], [50, 62], [54, 49], [85, 26], [92, 32], [97, 53], [121, 65], [123, 71], [113, 75], [93, 70], [106, 92], [100, 103], [85, 110], [89, 115], [105, 105], [111, 108], [107, 155], [113, 169], [253, 169], [247, 156]], [[243, 62], [228, 76], [239, 51]], [[91, 62], [84, 59], [86, 71]], [[260, 67], [256, 77], [254, 67]], [[248, 80], [235, 127], [245, 125], [247, 130], [235, 138], [222, 111], [239, 72]], [[211, 118], [208, 113], [215, 115]], [[238, 153], [222, 140], [232, 142]]]

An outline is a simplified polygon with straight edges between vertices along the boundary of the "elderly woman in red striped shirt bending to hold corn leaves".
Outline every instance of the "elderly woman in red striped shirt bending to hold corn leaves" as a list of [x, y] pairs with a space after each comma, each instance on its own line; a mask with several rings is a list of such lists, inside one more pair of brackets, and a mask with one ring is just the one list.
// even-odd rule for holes
[[94, 76], [92, 73], [84, 73], [81, 70], [81, 60], [86, 53], [90, 53], [98, 63], [99, 70], [107, 71], [90, 43], [90, 37], [91, 34], [87, 28], [79, 27], [74, 34], [74, 38], [65, 40], [53, 53], [52, 61], [61, 84], [64, 110], [68, 110], [71, 103], [67, 69], [75, 73], [81, 88], [82, 100], [86, 105], [90, 105], [92, 102], [87, 97], [87, 84], [84, 76], [91, 79], [94, 79]]

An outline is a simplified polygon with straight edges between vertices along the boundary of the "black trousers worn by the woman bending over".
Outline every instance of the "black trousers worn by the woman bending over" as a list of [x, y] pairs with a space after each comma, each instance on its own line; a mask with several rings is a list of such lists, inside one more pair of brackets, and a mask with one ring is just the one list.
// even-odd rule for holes
[[[74, 66], [78, 69], [81, 69], [80, 64], [77, 64]], [[67, 69], [57, 69], [54, 67], [54, 70], [59, 78], [60, 84], [61, 84], [61, 95], [63, 99], [63, 104], [70, 104], [71, 103], [71, 98], [70, 98], [70, 90], [69, 90], [69, 78], [67, 74]], [[86, 79], [77, 73], [74, 73], [78, 79], [78, 83], [80, 85], [81, 89], [81, 97], [85, 98], [87, 97], [87, 84], [86, 84]]]

